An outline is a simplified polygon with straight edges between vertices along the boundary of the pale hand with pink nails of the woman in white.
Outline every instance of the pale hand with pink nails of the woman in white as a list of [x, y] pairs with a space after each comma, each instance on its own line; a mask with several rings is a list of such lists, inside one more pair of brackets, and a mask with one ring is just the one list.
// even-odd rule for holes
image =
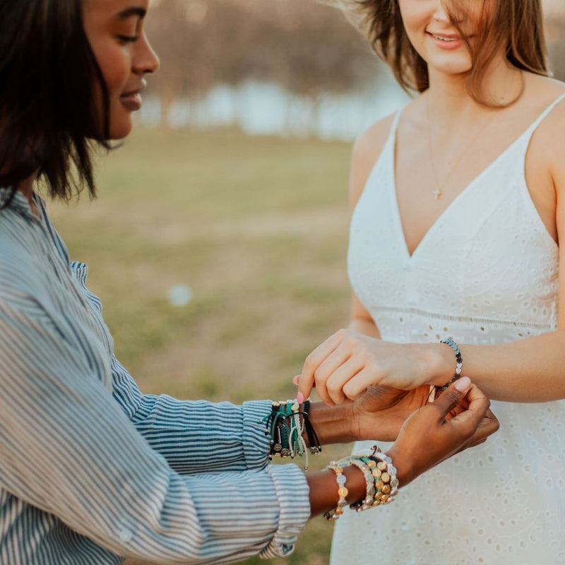
[[326, 404], [355, 400], [371, 385], [417, 388], [425, 382], [424, 347], [340, 330], [307, 357], [298, 381], [299, 398], [309, 398], [314, 386]]

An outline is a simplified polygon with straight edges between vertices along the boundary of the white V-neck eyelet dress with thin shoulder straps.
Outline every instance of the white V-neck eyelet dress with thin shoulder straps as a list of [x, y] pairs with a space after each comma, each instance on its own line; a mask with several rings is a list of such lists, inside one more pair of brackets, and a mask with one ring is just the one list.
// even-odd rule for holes
[[[383, 340], [496, 344], [557, 328], [558, 249], [524, 162], [564, 98], [465, 188], [412, 256], [396, 201], [397, 114], [353, 213], [348, 256]], [[565, 564], [564, 409], [565, 400], [493, 402], [501, 428], [485, 444], [422, 475], [393, 504], [340, 518], [331, 565]]]

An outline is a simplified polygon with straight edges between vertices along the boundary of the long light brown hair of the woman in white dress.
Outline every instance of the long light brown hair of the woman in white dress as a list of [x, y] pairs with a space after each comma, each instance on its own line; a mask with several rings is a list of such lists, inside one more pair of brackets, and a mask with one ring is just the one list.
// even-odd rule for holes
[[[371, 46], [391, 67], [398, 83], [405, 90], [420, 93], [426, 90], [427, 63], [408, 40], [398, 0], [345, 0], [345, 4], [361, 16], [362, 29], [367, 32]], [[467, 2], [445, 0], [445, 4], [451, 22], [465, 37], [460, 22], [465, 18]], [[488, 4], [491, 6], [487, 7]], [[499, 106], [484, 93], [482, 78], [501, 48], [509, 64], [517, 69], [549, 74], [541, 4], [541, 0], [484, 1], [477, 47], [471, 49], [468, 44], [472, 57], [468, 92], [474, 100], [490, 107]]]

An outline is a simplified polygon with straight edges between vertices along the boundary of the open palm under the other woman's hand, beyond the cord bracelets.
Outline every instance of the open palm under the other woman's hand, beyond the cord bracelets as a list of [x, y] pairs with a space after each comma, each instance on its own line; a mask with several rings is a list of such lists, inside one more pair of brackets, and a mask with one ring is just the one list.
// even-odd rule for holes
[[352, 405], [352, 418], [357, 423], [356, 439], [394, 441], [405, 420], [422, 408], [428, 397], [427, 385], [412, 391], [369, 386], [367, 392]]

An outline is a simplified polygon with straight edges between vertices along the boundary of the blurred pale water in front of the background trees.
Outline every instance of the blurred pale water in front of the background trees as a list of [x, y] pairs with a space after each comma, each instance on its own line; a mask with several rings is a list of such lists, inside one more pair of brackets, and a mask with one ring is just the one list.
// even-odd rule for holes
[[[165, 119], [174, 129], [235, 126], [249, 135], [350, 141], [408, 100], [396, 83], [386, 79], [361, 93], [322, 94], [316, 100], [274, 83], [246, 81], [237, 87], [216, 86], [196, 100], [175, 100]], [[148, 97], [139, 118], [145, 126], [156, 127], [162, 114], [160, 100]]]

